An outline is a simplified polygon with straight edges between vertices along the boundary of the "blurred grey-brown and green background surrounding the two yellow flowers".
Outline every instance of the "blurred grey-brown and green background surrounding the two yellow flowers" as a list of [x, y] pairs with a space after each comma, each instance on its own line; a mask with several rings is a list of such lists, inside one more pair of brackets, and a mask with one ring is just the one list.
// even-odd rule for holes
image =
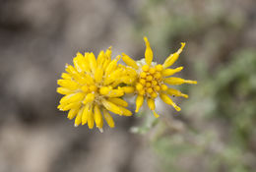
[[[144, 35], [159, 63], [187, 42], [182, 111], [74, 128], [56, 109], [65, 64], [110, 45], [140, 59]], [[0, 0], [0, 172], [253, 172], [255, 47], [254, 0]]]

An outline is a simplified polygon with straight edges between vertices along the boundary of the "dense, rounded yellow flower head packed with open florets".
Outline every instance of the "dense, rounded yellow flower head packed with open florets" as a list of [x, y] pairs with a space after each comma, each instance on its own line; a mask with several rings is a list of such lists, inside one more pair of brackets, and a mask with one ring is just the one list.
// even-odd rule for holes
[[[90, 129], [96, 127], [102, 132], [103, 118], [110, 128], [114, 121], [108, 111], [118, 115], [131, 116], [125, 107], [128, 103], [121, 96], [134, 81], [128, 70], [117, 65], [120, 56], [111, 60], [111, 47], [100, 51], [97, 58], [94, 53], [77, 53], [73, 59], [74, 67], [66, 65], [66, 72], [58, 80], [57, 92], [64, 94], [58, 109], [69, 111], [68, 118], [75, 118], [75, 126], [88, 124]], [[122, 85], [121, 85], [122, 84]], [[130, 90], [131, 91], [131, 90]]]

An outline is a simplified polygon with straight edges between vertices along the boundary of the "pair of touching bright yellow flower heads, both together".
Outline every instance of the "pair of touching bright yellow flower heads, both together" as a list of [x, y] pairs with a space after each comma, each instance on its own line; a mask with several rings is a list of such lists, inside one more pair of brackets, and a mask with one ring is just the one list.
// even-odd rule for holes
[[[125, 94], [137, 95], [136, 110], [147, 100], [149, 108], [158, 118], [155, 99], [160, 96], [166, 104], [178, 107], [169, 95], [188, 97], [187, 94], [169, 85], [197, 84], [196, 81], [170, 77], [180, 72], [183, 67], [168, 69], [179, 57], [185, 43], [181, 43], [177, 52], [170, 54], [162, 65], [153, 62], [153, 51], [147, 37], [145, 59], [134, 61], [122, 53], [111, 60], [111, 47], [100, 51], [97, 58], [94, 53], [78, 53], [73, 59], [74, 66], [66, 65], [66, 73], [58, 80], [57, 92], [64, 96], [58, 109], [69, 111], [68, 118], [75, 118], [75, 126], [88, 124], [90, 129], [96, 127], [102, 132], [103, 118], [110, 128], [114, 121], [109, 112], [120, 116], [131, 116], [123, 99]], [[117, 64], [122, 58], [127, 66]]]

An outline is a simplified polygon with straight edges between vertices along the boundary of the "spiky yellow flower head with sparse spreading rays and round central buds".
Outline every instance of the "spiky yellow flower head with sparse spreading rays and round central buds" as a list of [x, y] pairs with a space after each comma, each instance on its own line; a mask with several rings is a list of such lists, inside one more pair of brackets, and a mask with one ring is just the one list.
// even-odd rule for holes
[[149, 108], [154, 112], [154, 115], [158, 118], [156, 113], [155, 99], [160, 96], [161, 100], [166, 104], [173, 106], [177, 111], [180, 111], [178, 107], [168, 95], [188, 97], [187, 94], [180, 92], [177, 89], [170, 88], [167, 85], [182, 85], [182, 84], [197, 84], [196, 81], [184, 80], [180, 78], [170, 77], [177, 72], [180, 72], [183, 67], [175, 69], [168, 69], [179, 57], [185, 43], [181, 43], [181, 47], [177, 52], [170, 54], [162, 65], [153, 61], [153, 51], [150, 46], [150, 42], [147, 37], [144, 37], [146, 44], [145, 59], [135, 62], [126, 54], [122, 54], [123, 61], [137, 72], [137, 79], [134, 83], [135, 93], [138, 94], [136, 98], [136, 110], [138, 112], [144, 103], [144, 99], [147, 99]]

